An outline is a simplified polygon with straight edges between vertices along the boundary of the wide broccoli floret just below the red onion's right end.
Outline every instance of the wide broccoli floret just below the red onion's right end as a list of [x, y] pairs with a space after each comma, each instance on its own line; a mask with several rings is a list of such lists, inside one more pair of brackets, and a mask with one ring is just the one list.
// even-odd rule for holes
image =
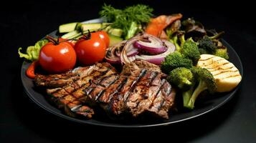
[[187, 69], [190, 69], [192, 66], [192, 61], [182, 56], [179, 51], [174, 51], [174, 53], [169, 54], [161, 63], [161, 69], [166, 74], [169, 74], [171, 70], [178, 67], [186, 67]]

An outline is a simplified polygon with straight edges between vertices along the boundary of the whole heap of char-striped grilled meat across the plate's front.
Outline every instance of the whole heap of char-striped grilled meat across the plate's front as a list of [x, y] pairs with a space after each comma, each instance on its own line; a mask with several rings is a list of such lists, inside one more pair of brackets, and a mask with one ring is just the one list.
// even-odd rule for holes
[[[144, 68], [143, 68], [144, 66]], [[175, 91], [163, 79], [158, 66], [147, 61], [125, 65], [121, 74], [108, 63], [79, 67], [66, 74], [37, 75], [37, 86], [47, 87], [47, 93], [59, 108], [70, 116], [91, 117], [100, 105], [108, 114], [132, 114], [133, 117], [151, 112], [168, 119], [174, 104]]]

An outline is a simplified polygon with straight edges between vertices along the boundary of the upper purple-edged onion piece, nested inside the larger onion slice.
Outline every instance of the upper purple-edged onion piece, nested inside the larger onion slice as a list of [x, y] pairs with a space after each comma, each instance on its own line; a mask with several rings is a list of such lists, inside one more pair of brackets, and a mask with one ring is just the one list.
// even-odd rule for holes
[[161, 54], [167, 50], [161, 39], [158, 39], [156, 36], [152, 36], [150, 34], [143, 34], [143, 39], [135, 41], [133, 46], [138, 49], [148, 51], [148, 53], [151, 54]]

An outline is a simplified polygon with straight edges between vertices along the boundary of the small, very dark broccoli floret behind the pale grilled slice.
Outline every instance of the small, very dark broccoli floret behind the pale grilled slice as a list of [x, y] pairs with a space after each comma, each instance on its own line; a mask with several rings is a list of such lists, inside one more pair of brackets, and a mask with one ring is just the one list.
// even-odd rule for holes
[[198, 47], [199, 49], [205, 49], [205, 51], [207, 51], [207, 54], [214, 54], [217, 50], [217, 46], [211, 39], [209, 39], [208, 36], [204, 36], [203, 39], [199, 40]]

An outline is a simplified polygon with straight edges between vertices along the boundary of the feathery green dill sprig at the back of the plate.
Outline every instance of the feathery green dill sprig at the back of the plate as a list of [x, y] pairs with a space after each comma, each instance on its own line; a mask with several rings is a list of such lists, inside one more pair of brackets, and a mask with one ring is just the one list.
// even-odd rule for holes
[[[105, 17], [108, 22], [113, 23], [111, 27], [123, 29], [123, 37], [129, 39], [136, 34], [139, 26], [148, 23], [151, 16], [153, 16], [152, 11], [153, 9], [143, 4], [128, 6], [123, 10], [115, 9], [113, 6], [104, 4], [99, 14]], [[137, 26], [137, 28], [135, 28], [135, 26]], [[133, 32], [129, 33], [131, 29]]]

